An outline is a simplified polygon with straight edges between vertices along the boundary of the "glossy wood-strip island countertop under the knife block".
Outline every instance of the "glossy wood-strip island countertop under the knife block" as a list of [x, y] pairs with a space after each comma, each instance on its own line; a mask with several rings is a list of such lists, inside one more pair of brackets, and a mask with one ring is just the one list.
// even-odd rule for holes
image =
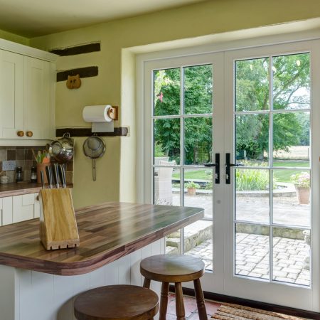
[[0, 264], [50, 274], [75, 275], [163, 238], [203, 218], [201, 208], [103, 203], [76, 210], [80, 247], [44, 249], [39, 220], [0, 227]]

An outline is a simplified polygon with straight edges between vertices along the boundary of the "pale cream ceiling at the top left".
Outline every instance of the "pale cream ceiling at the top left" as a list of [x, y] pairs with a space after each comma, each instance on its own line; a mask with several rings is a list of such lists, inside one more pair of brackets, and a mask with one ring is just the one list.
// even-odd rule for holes
[[32, 38], [203, 0], [0, 0], [0, 29]]

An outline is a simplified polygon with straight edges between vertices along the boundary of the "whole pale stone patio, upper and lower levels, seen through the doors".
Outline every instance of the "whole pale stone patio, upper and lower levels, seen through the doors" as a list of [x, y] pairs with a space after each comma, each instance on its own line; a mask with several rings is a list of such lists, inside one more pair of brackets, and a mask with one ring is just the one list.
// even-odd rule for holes
[[[238, 219], [264, 223], [269, 220], [269, 202], [266, 197], [240, 197], [237, 199]], [[174, 194], [174, 206], [179, 206], [179, 197]], [[197, 196], [185, 195], [185, 206], [195, 206], [205, 209], [205, 217], [212, 218], [212, 194]], [[284, 225], [297, 225], [301, 228], [286, 232], [285, 235], [273, 237], [273, 280], [293, 284], [310, 285], [310, 271], [306, 264], [309, 257], [309, 245], [304, 241], [303, 231], [309, 229], [309, 205], [299, 205], [295, 197], [274, 198], [274, 219]], [[277, 213], [282, 213], [281, 215]], [[185, 228], [185, 242], [196, 233], [202, 233], [210, 221], [199, 221]], [[247, 224], [243, 224], [247, 227]], [[238, 229], [237, 229], [238, 230]], [[207, 237], [207, 238], [206, 238]], [[210, 233], [201, 241], [193, 239], [194, 247], [186, 247], [186, 255], [199, 257], [205, 262], [206, 270], [213, 270], [213, 243]], [[288, 237], [288, 238], [284, 238]], [[270, 237], [269, 235], [247, 233], [245, 228], [239, 228], [236, 235], [235, 273], [246, 277], [269, 279], [270, 277]], [[176, 251], [176, 250], [174, 250]], [[178, 250], [177, 250], [178, 251]]]

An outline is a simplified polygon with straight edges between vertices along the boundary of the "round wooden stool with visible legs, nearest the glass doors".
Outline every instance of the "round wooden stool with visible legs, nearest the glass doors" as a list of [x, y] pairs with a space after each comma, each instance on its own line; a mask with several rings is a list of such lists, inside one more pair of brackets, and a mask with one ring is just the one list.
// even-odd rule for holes
[[176, 287], [176, 319], [185, 320], [181, 282], [193, 281], [200, 320], [207, 320], [206, 305], [201, 289], [200, 277], [205, 272], [202, 260], [188, 255], [154, 255], [140, 263], [140, 272], [144, 276], [144, 287], [150, 287], [150, 281], [162, 282], [159, 320], [166, 319], [169, 282]]

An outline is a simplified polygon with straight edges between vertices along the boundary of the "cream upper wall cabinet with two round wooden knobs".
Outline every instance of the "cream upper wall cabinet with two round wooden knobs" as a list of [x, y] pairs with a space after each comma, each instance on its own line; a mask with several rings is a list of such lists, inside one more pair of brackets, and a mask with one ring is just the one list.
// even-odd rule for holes
[[0, 144], [42, 143], [55, 137], [55, 55], [18, 49], [1, 50], [0, 41]]

